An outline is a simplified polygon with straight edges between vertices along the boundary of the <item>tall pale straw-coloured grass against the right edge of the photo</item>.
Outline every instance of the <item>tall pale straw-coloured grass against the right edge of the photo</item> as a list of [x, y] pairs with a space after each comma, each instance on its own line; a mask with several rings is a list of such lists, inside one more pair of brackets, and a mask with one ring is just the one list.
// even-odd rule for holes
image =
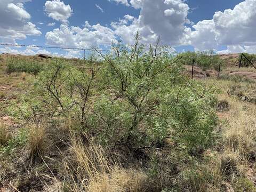
[[225, 117], [228, 126], [223, 130], [224, 148], [236, 151], [244, 161], [256, 157], [256, 106], [229, 98], [231, 110]]

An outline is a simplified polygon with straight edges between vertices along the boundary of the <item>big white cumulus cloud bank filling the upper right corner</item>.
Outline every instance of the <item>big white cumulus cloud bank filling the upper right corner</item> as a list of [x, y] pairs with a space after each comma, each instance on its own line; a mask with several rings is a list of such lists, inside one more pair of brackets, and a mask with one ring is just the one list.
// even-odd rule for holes
[[187, 28], [187, 41], [199, 50], [228, 45], [227, 51], [243, 51], [241, 46], [256, 45], [256, 0], [245, 0], [223, 12], [215, 12], [213, 19], [203, 20]]

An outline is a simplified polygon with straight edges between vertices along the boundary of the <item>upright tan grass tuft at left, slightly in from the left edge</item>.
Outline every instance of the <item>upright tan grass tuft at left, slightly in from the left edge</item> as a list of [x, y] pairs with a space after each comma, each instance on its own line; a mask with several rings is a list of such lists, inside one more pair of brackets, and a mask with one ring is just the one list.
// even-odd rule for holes
[[44, 122], [29, 125], [28, 154], [32, 160], [41, 156], [45, 151], [45, 128]]

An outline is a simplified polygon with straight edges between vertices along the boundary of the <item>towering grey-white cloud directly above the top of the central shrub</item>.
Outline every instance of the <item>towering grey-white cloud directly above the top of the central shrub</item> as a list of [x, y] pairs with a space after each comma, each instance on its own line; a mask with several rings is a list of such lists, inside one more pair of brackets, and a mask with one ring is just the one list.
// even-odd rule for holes
[[[125, 43], [131, 43], [135, 33], [140, 31], [142, 41], [152, 43], [159, 36], [164, 44], [179, 45], [186, 35], [185, 23], [189, 6], [182, 0], [136, 0], [130, 2], [135, 8], [140, 8], [138, 18], [131, 18], [132, 23], [113, 22], [111, 26], [115, 33]], [[124, 19], [131, 21], [125, 17]], [[123, 21], [123, 20], [121, 20]]]

